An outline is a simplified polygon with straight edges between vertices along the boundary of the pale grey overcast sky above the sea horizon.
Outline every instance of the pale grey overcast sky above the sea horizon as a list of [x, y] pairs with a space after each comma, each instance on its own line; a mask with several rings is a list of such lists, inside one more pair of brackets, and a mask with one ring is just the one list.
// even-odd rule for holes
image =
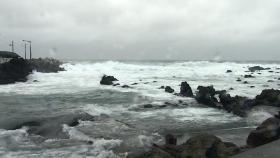
[[0, 0], [0, 49], [36, 57], [280, 60], [279, 0]]

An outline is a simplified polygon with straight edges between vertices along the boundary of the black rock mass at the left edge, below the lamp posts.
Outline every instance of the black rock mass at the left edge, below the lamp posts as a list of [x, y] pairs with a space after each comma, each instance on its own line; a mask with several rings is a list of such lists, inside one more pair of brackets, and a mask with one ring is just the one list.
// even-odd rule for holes
[[9, 62], [0, 64], [0, 84], [27, 81], [32, 72], [29, 63], [22, 58], [14, 58]]

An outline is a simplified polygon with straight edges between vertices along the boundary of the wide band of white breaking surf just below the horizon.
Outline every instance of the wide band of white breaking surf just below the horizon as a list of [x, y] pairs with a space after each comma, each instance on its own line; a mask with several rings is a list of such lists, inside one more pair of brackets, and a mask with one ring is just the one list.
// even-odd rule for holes
[[[64, 72], [59, 73], [38, 73], [29, 76], [26, 83], [1, 85], [0, 93], [17, 94], [53, 94], [53, 93], [73, 93], [92, 89], [114, 89], [119, 91], [134, 91], [152, 97], [170, 98], [163, 90], [158, 89], [162, 85], [170, 85], [179, 91], [181, 81], [188, 81], [193, 88], [198, 85], [214, 85], [216, 89], [235, 90], [232, 94], [253, 97], [258, 94], [263, 85], [271, 87], [278, 86], [277, 83], [267, 83], [273, 79], [273, 73], [263, 71], [257, 78], [246, 79], [255, 88], [248, 88], [249, 85], [236, 82], [238, 77], [247, 74], [248, 66], [256, 64], [240, 63], [215, 63], [215, 62], [172, 62], [172, 63], [122, 63], [115, 61], [107, 62], [75, 62], [66, 63], [63, 67]], [[257, 64], [263, 67], [276, 68], [277, 64]], [[233, 73], [225, 73], [226, 70]], [[120, 84], [130, 85], [133, 89], [123, 89], [112, 86], [102, 86], [99, 84], [101, 77], [113, 75], [119, 79]], [[38, 80], [39, 82], [33, 82]], [[244, 79], [245, 80], [245, 79]], [[153, 82], [157, 81], [157, 82]], [[147, 83], [147, 84], [144, 84]]]

